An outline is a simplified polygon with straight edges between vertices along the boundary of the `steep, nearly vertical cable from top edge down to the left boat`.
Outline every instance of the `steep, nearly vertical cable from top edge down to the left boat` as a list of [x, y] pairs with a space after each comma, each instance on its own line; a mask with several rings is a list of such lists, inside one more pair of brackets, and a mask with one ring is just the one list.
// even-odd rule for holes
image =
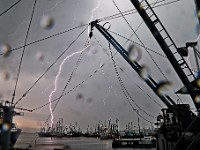
[[[27, 32], [26, 32], [24, 45], [26, 45], [27, 40], [28, 40], [28, 35], [29, 35], [30, 28], [31, 28], [31, 23], [32, 23], [32, 20], [33, 20], [34, 12], [35, 12], [36, 2], [37, 2], [37, 0], [34, 1], [33, 10], [32, 10], [32, 13], [31, 13], [31, 19], [30, 19], [30, 22], [29, 22], [29, 25], [28, 25], [28, 29], [27, 29]], [[13, 91], [13, 95], [12, 95], [11, 104], [13, 104], [13, 102], [14, 102], [15, 93], [16, 93], [16, 90], [17, 90], [17, 84], [18, 84], [18, 80], [19, 80], [19, 74], [20, 74], [20, 71], [21, 71], [21, 65], [22, 65], [22, 61], [23, 61], [23, 57], [24, 57], [25, 48], [26, 47], [24, 47], [23, 51], [22, 51], [22, 55], [21, 55], [21, 59], [20, 59], [20, 63], [19, 63], [19, 68], [18, 68], [18, 71], [17, 71], [17, 79], [16, 79], [16, 83], [15, 83], [15, 87], [14, 87], [14, 91]]]

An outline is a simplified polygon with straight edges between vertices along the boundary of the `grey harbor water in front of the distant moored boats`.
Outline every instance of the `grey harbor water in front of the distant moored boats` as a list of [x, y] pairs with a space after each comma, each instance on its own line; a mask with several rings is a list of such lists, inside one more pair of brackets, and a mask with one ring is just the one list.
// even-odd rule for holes
[[[54, 150], [66, 147], [67, 150], [112, 150], [112, 140], [98, 138], [66, 137], [66, 138], [38, 138], [35, 133], [21, 133], [15, 147], [34, 150]], [[117, 150], [133, 150], [133, 148], [117, 148]], [[155, 148], [134, 148], [134, 150], [155, 150]]]

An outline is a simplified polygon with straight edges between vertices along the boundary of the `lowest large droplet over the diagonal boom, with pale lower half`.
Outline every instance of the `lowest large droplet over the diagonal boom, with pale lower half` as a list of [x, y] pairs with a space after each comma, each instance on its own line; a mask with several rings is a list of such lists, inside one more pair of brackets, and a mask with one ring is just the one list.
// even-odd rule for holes
[[165, 95], [171, 89], [171, 82], [169, 81], [160, 81], [156, 87], [156, 92], [159, 95]]

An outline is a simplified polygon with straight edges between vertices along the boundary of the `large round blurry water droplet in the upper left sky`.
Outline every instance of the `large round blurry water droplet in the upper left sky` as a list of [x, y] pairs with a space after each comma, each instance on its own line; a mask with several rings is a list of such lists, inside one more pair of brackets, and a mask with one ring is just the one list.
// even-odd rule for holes
[[40, 19], [40, 26], [44, 29], [51, 29], [54, 26], [54, 19], [48, 15], [43, 15]]

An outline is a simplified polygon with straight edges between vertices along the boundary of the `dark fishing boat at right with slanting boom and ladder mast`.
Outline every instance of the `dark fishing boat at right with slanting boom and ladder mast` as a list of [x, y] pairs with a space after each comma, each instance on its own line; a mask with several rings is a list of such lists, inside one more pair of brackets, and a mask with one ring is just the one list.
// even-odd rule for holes
[[[156, 148], [157, 150], [199, 150], [200, 147], [200, 95], [199, 95], [199, 78], [195, 76], [191, 68], [188, 65], [187, 60], [184, 58], [187, 56], [187, 48], [193, 48], [198, 54], [198, 42], [187, 42], [186, 47], [178, 48], [169, 35], [168, 31], [164, 27], [163, 23], [153, 10], [152, 6], [147, 0], [130, 0], [133, 6], [136, 8], [139, 15], [142, 17], [144, 23], [149, 28], [152, 36], [157, 41], [160, 48], [163, 50], [167, 59], [174, 68], [176, 74], [184, 85], [186, 93], [191, 97], [196, 109], [197, 114], [191, 111], [189, 104], [176, 103], [167, 94], [160, 94], [158, 89], [160, 85], [153, 77], [148, 75], [146, 78], [141, 76], [141, 72], [144, 67], [136, 61], [129, 59], [129, 53], [113, 38], [104, 26], [99, 24], [99, 20], [90, 23], [92, 37], [93, 30], [96, 28], [107, 41], [119, 52], [119, 54], [129, 63], [129, 65], [141, 76], [144, 82], [152, 89], [152, 91], [160, 98], [160, 100], [167, 106], [163, 108], [162, 117], [157, 118], [160, 120], [158, 130], [156, 134]], [[200, 20], [199, 10], [200, 1], [195, 0], [197, 6], [197, 15]], [[148, 12], [148, 13], [147, 13]], [[122, 15], [123, 16], [123, 15]], [[196, 59], [197, 56], [195, 57]], [[197, 66], [199, 66], [197, 61]], [[200, 68], [198, 68], [200, 69]], [[198, 70], [199, 71], [199, 70]], [[196, 85], [194, 86], [194, 82]], [[159, 115], [160, 116], [160, 115]], [[162, 118], [162, 119], [161, 119]]]

